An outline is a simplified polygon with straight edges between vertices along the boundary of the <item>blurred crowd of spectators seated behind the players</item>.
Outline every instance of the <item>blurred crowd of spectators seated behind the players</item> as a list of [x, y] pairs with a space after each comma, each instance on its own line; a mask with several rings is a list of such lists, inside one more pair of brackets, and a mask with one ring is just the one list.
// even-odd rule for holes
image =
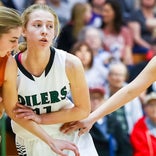
[[[92, 111], [132, 81], [156, 54], [155, 0], [1, 0], [19, 12], [34, 3], [48, 4], [57, 13], [60, 33], [55, 46], [82, 61]], [[156, 156], [156, 123], [151, 117], [155, 94], [153, 84], [96, 122], [90, 133], [99, 156]]]

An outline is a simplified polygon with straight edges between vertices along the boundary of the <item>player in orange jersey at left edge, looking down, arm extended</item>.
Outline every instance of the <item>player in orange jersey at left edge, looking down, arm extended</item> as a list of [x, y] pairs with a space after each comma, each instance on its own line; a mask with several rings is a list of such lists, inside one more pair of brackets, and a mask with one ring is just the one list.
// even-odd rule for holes
[[13, 109], [17, 103], [17, 65], [10, 52], [17, 48], [18, 38], [22, 30], [21, 26], [21, 17], [16, 11], [0, 6], [0, 87], [3, 97], [3, 105], [0, 103], [1, 112], [3, 112], [4, 106], [6, 113], [15, 122], [42, 139], [59, 155], [67, 156], [62, 150], [69, 149], [79, 156], [78, 149], [73, 143], [52, 139], [35, 122], [17, 119], [13, 114]]

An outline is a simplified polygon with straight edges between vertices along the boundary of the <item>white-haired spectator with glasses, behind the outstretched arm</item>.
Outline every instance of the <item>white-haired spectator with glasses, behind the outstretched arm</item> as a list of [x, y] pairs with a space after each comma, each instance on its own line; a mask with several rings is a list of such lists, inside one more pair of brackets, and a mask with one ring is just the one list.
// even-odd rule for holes
[[[107, 97], [112, 96], [119, 89], [126, 85], [127, 68], [123, 63], [110, 65], [108, 72], [108, 85], [106, 88]], [[142, 104], [139, 97], [128, 102], [125, 106], [113, 112], [116, 119], [122, 124], [123, 130], [127, 134], [127, 139], [133, 129], [134, 124], [143, 115]]]

